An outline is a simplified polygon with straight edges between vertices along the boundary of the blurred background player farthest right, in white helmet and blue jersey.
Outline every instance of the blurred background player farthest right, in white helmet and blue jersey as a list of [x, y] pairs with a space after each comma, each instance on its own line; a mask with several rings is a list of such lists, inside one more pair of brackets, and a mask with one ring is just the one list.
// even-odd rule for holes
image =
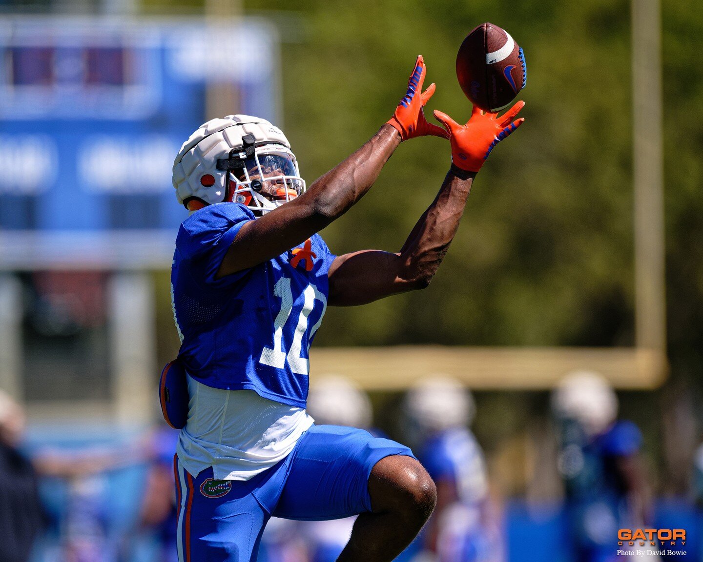
[[617, 560], [617, 530], [642, 528], [652, 518], [640, 430], [617, 420], [617, 396], [595, 372], [567, 374], [552, 407], [574, 560]]

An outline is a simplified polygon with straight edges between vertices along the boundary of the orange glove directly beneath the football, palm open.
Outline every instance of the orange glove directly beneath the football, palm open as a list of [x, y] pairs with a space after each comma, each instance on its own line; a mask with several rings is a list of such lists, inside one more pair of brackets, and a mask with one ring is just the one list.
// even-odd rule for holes
[[503, 117], [497, 113], [489, 113], [474, 106], [471, 119], [465, 125], [455, 122], [449, 115], [441, 111], [434, 111], [434, 117], [444, 125], [451, 141], [451, 162], [466, 171], [479, 171], [491, 150], [508, 136], [517, 127], [522, 125], [524, 119], [517, 117], [524, 101], [519, 101], [508, 110]]

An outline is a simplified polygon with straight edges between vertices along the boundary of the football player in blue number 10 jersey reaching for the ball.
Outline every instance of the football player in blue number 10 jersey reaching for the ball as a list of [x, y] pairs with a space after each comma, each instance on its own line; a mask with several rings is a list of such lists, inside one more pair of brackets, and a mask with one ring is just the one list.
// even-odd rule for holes
[[[339, 561], [390, 561], [432, 513], [432, 478], [408, 447], [307, 414], [308, 350], [327, 306], [427, 287], [458, 228], [473, 179], [522, 119], [475, 109], [427, 123], [418, 57], [389, 122], [309, 189], [288, 140], [264, 119], [203, 124], [174, 162], [191, 211], [176, 238], [172, 295], [187, 373], [176, 448], [181, 562], [255, 560], [271, 516], [356, 518]], [[333, 255], [318, 231], [370, 189], [401, 142], [451, 141], [437, 196], [395, 252]]]

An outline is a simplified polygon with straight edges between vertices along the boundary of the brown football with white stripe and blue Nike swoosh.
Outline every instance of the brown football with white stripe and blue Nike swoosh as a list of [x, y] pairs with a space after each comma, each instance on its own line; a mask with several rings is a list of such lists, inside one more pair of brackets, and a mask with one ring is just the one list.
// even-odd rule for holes
[[524, 53], [508, 32], [482, 23], [459, 47], [456, 77], [471, 103], [496, 112], [510, 104], [527, 83]]

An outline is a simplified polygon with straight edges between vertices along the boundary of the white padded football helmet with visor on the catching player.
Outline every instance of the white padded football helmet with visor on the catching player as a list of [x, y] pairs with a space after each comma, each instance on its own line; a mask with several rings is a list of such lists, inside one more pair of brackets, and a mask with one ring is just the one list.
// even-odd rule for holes
[[305, 191], [283, 131], [250, 115], [202, 124], [181, 146], [172, 181], [190, 211], [233, 201], [261, 216]]

